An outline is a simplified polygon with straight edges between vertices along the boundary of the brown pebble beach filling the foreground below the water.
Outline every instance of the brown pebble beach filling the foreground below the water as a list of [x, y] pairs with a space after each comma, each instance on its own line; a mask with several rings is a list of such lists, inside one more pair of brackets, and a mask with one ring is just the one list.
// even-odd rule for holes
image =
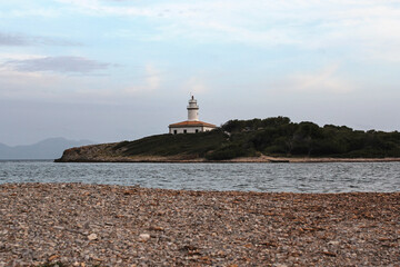
[[0, 266], [399, 266], [400, 192], [0, 185]]

